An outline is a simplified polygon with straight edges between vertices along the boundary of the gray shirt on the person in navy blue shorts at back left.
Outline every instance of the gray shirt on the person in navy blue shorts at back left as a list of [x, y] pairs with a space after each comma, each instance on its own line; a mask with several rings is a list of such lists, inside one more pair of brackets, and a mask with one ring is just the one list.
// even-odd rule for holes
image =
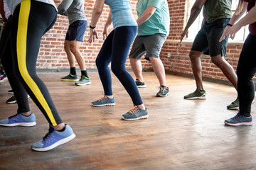
[[67, 15], [70, 24], [78, 20], [87, 20], [83, 0], [63, 0], [58, 6], [58, 14]]

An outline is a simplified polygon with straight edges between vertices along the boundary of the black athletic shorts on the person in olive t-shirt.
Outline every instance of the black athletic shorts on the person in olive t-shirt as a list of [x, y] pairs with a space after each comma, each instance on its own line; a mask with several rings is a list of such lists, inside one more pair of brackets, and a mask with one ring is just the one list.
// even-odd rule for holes
[[191, 47], [191, 51], [203, 52], [210, 57], [221, 55], [226, 56], [226, 47], [228, 44], [228, 36], [225, 40], [219, 42], [223, 30], [227, 26], [230, 18], [221, 18], [213, 23], [203, 23]]

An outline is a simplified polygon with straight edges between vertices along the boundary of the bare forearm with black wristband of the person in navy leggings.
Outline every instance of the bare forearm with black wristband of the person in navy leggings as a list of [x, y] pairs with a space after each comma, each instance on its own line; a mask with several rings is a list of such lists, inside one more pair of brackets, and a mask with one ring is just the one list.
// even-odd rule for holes
[[100, 18], [100, 15], [102, 13], [103, 7], [104, 7], [105, 0], [96, 0], [95, 6], [92, 9], [92, 18], [90, 22], [90, 35], [89, 35], [89, 43], [92, 43], [95, 41], [95, 38], [97, 39], [97, 31], [95, 30], [97, 21]]

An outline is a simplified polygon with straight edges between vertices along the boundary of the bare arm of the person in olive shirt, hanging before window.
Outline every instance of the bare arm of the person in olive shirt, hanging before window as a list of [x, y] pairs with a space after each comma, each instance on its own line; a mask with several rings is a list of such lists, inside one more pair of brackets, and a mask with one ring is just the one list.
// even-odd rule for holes
[[186, 24], [186, 27], [183, 30], [183, 33], [181, 34], [181, 42], [182, 42], [183, 38], [185, 37], [185, 35], [188, 36], [188, 28], [196, 20], [196, 18], [198, 17], [198, 15], [201, 12], [203, 5], [205, 3], [206, 3], [206, 0], [196, 0], [195, 4], [193, 4], [193, 6], [191, 8], [191, 15], [188, 18], [188, 23]]

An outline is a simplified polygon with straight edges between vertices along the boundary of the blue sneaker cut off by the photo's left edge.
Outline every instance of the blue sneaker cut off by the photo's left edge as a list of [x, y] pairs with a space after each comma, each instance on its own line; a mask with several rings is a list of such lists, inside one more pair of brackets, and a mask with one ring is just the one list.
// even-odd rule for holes
[[2, 126], [34, 126], [36, 125], [36, 116], [34, 113], [31, 113], [29, 116], [21, 115], [17, 113], [7, 119], [0, 120], [0, 125]]

